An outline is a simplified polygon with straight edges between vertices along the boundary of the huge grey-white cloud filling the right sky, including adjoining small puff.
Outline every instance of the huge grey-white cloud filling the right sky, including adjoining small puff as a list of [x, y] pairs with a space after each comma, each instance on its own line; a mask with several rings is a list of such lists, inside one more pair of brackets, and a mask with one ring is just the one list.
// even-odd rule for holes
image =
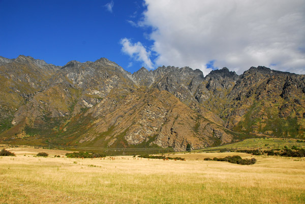
[[[251, 66], [305, 74], [303, 0], [145, 0], [144, 20], [157, 65], [190, 66], [204, 75], [227, 66], [237, 74]], [[132, 23], [131, 23], [132, 24]], [[152, 64], [138, 42], [123, 50]], [[143, 51], [140, 55], [140, 50]], [[144, 52], [145, 51], [145, 52]], [[133, 55], [132, 54], [132, 55]], [[143, 56], [143, 57], [142, 57]]]

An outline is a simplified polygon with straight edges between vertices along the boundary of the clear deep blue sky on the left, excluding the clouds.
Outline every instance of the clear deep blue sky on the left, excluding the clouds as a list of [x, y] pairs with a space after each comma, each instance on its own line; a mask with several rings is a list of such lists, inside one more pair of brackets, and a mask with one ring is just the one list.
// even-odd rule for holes
[[150, 46], [145, 28], [128, 22], [138, 21], [145, 7], [142, 1], [113, 1], [109, 10], [107, 4], [111, 1], [0, 1], [0, 56], [22, 54], [55, 65], [106, 57], [134, 72], [142, 62], [124, 54], [120, 40]]

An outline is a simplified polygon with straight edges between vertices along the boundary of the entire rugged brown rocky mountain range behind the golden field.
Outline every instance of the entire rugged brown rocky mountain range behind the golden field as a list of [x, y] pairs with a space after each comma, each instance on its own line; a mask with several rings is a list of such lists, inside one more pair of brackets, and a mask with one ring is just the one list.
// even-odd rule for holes
[[218, 146], [305, 138], [305, 75], [226, 67], [142, 67], [106, 58], [64, 66], [0, 57], [0, 143], [103, 148]]

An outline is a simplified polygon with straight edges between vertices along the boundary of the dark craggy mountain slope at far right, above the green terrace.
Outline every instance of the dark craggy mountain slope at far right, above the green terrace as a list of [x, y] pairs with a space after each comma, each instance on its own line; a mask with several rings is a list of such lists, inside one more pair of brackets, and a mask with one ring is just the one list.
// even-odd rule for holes
[[227, 127], [276, 137], [304, 137], [305, 76], [251, 67], [228, 95]]

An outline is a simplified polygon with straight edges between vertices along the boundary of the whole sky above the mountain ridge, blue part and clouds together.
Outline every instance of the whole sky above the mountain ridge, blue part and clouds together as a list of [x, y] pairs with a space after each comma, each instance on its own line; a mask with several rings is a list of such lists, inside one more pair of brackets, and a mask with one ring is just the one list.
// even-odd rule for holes
[[0, 56], [305, 74], [305, 0], [0, 0]]

